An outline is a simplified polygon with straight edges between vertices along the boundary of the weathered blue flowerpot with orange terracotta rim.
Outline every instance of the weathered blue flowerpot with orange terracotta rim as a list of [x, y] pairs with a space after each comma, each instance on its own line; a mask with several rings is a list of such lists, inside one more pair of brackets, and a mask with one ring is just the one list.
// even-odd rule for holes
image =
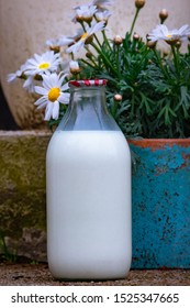
[[133, 268], [190, 268], [190, 139], [138, 140]]

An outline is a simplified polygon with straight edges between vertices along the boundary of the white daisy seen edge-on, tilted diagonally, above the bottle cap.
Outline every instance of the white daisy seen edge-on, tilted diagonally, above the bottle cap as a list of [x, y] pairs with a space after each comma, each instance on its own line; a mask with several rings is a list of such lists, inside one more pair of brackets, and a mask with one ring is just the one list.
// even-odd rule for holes
[[78, 53], [83, 46], [85, 44], [87, 44], [87, 41], [90, 36], [92, 36], [94, 33], [102, 31], [104, 29], [104, 22], [100, 21], [96, 24], [93, 24], [91, 28], [89, 26], [87, 29], [86, 32], [83, 32], [83, 34], [80, 36], [79, 41], [76, 42], [74, 45], [71, 45], [70, 47], [68, 47], [66, 50], [66, 52], [69, 53]]

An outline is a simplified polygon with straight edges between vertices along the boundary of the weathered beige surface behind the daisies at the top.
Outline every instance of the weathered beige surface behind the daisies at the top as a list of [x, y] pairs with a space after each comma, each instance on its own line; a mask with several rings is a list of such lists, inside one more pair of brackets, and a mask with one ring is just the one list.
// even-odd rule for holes
[[[75, 33], [70, 22], [71, 8], [82, 0], [0, 0], [0, 80], [16, 122], [23, 128], [42, 124], [42, 114], [33, 106], [34, 97], [25, 94], [20, 84], [7, 85], [5, 76], [15, 72], [34, 52], [44, 51], [44, 42], [60, 34]], [[136, 31], [145, 36], [158, 22], [158, 12], [166, 8], [170, 28], [190, 24], [189, 0], [146, 0]], [[110, 35], [124, 34], [134, 14], [133, 0], [114, 0], [110, 20]]]

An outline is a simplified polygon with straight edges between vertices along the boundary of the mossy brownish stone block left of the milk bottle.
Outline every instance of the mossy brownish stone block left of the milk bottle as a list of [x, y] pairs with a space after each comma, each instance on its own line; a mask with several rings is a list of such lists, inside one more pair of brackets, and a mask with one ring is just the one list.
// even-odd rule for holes
[[46, 260], [48, 132], [0, 132], [0, 253]]

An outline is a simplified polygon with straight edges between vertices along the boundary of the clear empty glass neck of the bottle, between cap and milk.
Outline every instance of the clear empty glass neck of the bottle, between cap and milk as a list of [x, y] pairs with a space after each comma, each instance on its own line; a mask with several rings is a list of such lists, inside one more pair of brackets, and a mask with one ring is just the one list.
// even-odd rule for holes
[[59, 125], [66, 131], [120, 130], [105, 102], [105, 87], [70, 88], [70, 103]]

